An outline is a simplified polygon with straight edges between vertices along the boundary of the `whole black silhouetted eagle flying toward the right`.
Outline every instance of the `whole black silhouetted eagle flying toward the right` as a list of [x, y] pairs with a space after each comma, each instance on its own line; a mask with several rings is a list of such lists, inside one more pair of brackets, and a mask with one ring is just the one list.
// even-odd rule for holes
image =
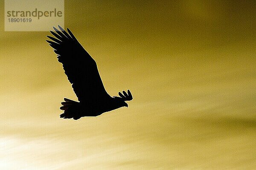
[[131, 92], [118, 93], [120, 97], [111, 97], [105, 90], [94, 59], [85, 51], [76, 37], [67, 28], [68, 33], [58, 26], [60, 31], [50, 31], [54, 37], [47, 36], [52, 41], [49, 45], [54, 48], [58, 61], [63, 64], [65, 74], [72, 84], [79, 102], [64, 98], [61, 102], [60, 115], [64, 119], [79, 119], [83, 116], [99, 116], [102, 113], [121, 107], [128, 107], [125, 101], [132, 100]]

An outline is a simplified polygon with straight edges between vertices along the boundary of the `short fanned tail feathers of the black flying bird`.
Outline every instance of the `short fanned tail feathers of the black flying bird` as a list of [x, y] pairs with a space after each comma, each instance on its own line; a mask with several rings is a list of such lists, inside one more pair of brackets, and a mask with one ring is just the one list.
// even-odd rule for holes
[[79, 116], [79, 102], [76, 102], [74, 100], [70, 100], [67, 98], [64, 98], [65, 102], [61, 102], [61, 107], [60, 109], [64, 111], [64, 113], [62, 113], [60, 115], [61, 118], [64, 119], [79, 119], [81, 118], [81, 116]]

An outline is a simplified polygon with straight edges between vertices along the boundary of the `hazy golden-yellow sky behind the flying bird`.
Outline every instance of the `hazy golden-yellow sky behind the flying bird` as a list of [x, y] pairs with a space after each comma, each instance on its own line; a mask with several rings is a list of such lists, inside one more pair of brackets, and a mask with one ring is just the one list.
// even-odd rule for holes
[[64, 27], [108, 93], [134, 96], [77, 121], [59, 118], [77, 98], [49, 32], [1, 24], [0, 169], [255, 169], [255, 11], [253, 0], [66, 0]]

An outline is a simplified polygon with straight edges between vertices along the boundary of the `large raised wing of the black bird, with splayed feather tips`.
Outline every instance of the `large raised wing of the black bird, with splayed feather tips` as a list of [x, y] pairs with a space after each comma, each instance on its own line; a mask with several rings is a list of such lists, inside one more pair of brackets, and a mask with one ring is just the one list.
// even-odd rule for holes
[[72, 84], [73, 90], [81, 102], [100, 102], [111, 96], [106, 92], [94, 59], [85, 51], [76, 37], [67, 28], [68, 33], [58, 26], [60, 31], [50, 31], [55, 37], [47, 36], [52, 41], [58, 61], [63, 64], [65, 74]]

